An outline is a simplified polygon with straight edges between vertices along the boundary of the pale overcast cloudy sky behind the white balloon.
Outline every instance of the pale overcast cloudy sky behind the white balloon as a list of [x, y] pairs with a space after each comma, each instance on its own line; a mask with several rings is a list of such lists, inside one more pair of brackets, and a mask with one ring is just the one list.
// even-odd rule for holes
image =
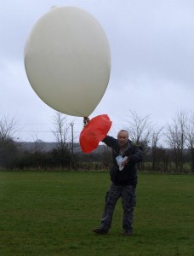
[[[1, 0], [0, 119], [17, 120], [20, 141], [54, 141], [54, 110], [31, 89], [24, 67], [26, 38], [52, 6], [84, 9], [106, 32], [111, 78], [90, 118], [108, 114], [111, 135], [130, 111], [165, 125], [178, 110], [194, 110], [193, 0]], [[83, 119], [69, 120], [79, 134]]]

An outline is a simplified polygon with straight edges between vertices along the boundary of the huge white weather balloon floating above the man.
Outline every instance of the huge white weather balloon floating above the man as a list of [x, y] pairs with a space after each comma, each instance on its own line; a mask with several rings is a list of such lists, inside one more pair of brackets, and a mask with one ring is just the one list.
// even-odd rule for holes
[[48, 106], [88, 117], [110, 78], [106, 34], [83, 9], [51, 9], [37, 20], [26, 40], [25, 67], [31, 87]]

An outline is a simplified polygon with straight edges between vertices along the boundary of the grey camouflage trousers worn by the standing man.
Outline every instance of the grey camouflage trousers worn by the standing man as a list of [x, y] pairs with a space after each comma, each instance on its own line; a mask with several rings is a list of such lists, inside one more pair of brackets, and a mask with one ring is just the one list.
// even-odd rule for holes
[[106, 193], [106, 205], [101, 218], [101, 226], [109, 230], [111, 228], [112, 216], [117, 203], [121, 197], [123, 205], [123, 230], [132, 232], [134, 207], [136, 205], [136, 187], [131, 185], [115, 185], [111, 183]]

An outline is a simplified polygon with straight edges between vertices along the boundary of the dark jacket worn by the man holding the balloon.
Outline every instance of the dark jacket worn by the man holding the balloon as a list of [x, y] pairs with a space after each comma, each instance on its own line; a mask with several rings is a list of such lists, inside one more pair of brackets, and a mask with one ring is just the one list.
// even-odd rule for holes
[[106, 136], [102, 141], [106, 143], [112, 150], [113, 166], [110, 170], [111, 181], [116, 185], [136, 185], [137, 184], [137, 167], [136, 164], [142, 161], [143, 151], [141, 148], [128, 140], [128, 149], [124, 152], [124, 156], [128, 156], [128, 164], [124, 166], [122, 171], [119, 171], [117, 166], [116, 157], [119, 155], [119, 146], [117, 139], [114, 137]]

